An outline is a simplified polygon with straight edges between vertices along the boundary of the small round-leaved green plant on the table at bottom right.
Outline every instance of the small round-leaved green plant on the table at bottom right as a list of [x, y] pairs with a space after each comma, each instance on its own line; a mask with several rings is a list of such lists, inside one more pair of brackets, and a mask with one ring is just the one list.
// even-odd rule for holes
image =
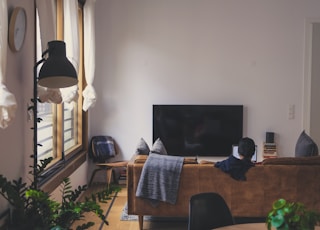
[[279, 199], [273, 203], [266, 223], [268, 230], [312, 230], [319, 221], [320, 213], [308, 210], [304, 204]]

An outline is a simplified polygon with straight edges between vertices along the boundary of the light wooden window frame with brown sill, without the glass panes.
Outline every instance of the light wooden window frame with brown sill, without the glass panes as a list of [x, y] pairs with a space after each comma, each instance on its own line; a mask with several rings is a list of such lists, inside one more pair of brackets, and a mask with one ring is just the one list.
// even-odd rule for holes
[[[56, 0], [57, 4], [57, 39], [63, 40], [63, 1], [64, 0]], [[58, 160], [54, 162], [45, 172], [44, 179], [39, 182], [41, 189], [50, 193], [54, 191], [60, 184], [61, 181], [69, 177], [73, 172], [75, 172], [85, 161], [88, 152], [88, 112], [82, 110], [82, 91], [86, 86], [85, 76], [84, 76], [84, 45], [83, 45], [83, 6], [85, 1], [78, 0], [79, 5], [79, 43], [80, 43], [80, 59], [79, 59], [79, 73], [78, 73], [78, 89], [79, 89], [79, 98], [78, 98], [78, 106], [77, 106], [77, 143], [71, 150], [68, 155], [64, 159]], [[62, 151], [59, 151], [63, 148], [63, 105], [55, 106], [57, 119], [56, 133], [60, 133], [59, 136], [57, 134], [57, 153], [62, 154]]]

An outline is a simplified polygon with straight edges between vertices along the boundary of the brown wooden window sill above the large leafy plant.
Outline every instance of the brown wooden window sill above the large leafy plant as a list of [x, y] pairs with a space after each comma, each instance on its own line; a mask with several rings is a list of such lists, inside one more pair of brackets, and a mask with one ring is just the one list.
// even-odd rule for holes
[[66, 177], [69, 177], [74, 171], [76, 171], [85, 161], [86, 161], [87, 152], [83, 151], [73, 159], [70, 159], [70, 162], [63, 167], [61, 170], [55, 173], [55, 175], [41, 185], [41, 189], [45, 192], [53, 192]]

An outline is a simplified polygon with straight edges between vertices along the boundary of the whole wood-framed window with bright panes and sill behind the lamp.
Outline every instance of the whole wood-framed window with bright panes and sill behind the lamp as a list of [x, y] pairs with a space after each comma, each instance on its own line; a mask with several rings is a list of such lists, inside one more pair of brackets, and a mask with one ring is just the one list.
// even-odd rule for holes
[[[56, 0], [57, 37], [56, 40], [66, 40], [64, 30], [64, 2]], [[82, 111], [82, 95], [85, 78], [83, 71], [83, 3], [78, 4], [79, 24], [79, 68], [78, 68], [78, 99], [70, 103], [38, 103], [38, 161], [53, 157], [52, 163], [44, 173], [40, 182], [44, 190], [52, 191], [60, 184], [61, 179], [69, 176], [82, 162], [85, 161], [87, 148], [87, 116]], [[41, 39], [39, 16], [37, 12], [36, 44], [37, 60], [41, 59]], [[66, 46], [67, 46], [66, 42]], [[41, 67], [39, 67], [40, 69]], [[48, 182], [49, 181], [49, 182]], [[48, 182], [48, 183], [47, 183]]]

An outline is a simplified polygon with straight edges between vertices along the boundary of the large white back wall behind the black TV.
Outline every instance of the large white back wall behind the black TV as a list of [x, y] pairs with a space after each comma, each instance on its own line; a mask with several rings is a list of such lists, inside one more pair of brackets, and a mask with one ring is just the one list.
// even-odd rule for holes
[[305, 21], [319, 17], [314, 0], [97, 1], [90, 135], [113, 136], [129, 159], [140, 137], [152, 144], [152, 104], [243, 104], [260, 154], [272, 131], [279, 154], [293, 156]]

